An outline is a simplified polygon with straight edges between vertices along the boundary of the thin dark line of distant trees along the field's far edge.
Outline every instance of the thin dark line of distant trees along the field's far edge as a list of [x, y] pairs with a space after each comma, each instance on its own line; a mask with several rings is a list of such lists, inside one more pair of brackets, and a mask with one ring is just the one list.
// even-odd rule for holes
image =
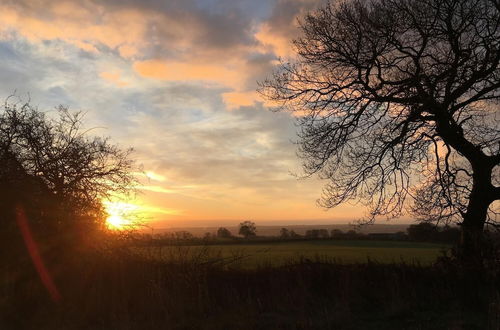
[[186, 230], [162, 234], [134, 234], [139, 241], [148, 241], [154, 244], [233, 244], [238, 242], [263, 242], [287, 240], [395, 240], [435, 243], [457, 243], [460, 239], [460, 228], [456, 226], [436, 226], [428, 222], [408, 226], [406, 232], [396, 233], [361, 233], [354, 229], [342, 231], [340, 229], [308, 229], [304, 234], [298, 234], [293, 229], [281, 228], [278, 236], [240, 236], [233, 235], [225, 227], [220, 227], [215, 233], [207, 232], [202, 237], [194, 236]]

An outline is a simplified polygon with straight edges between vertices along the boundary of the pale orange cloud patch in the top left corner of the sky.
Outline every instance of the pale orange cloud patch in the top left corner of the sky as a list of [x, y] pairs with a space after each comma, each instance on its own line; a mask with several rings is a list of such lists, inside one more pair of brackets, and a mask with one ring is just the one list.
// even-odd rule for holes
[[[30, 41], [63, 40], [89, 52], [97, 52], [99, 45], [118, 49], [123, 56], [131, 57], [144, 46], [147, 17], [133, 10], [109, 11], [106, 14], [97, 4], [72, 2], [48, 3], [44, 10], [49, 14], [37, 16], [20, 12], [17, 7], [0, 7], [2, 27], [0, 32], [16, 31]], [[152, 15], [154, 17], [154, 15]]]

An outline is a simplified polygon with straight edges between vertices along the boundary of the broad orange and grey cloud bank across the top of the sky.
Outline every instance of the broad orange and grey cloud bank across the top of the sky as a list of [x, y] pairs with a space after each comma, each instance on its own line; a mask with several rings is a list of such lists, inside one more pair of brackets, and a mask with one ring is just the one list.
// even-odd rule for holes
[[[143, 78], [227, 87], [229, 110], [259, 101], [277, 56], [291, 54], [296, 18], [314, 1], [29, 1], [0, 6], [0, 36], [61, 41], [93, 56], [114, 54]], [[115, 71], [101, 78], [129, 87]], [[261, 100], [260, 100], [261, 101]]]

